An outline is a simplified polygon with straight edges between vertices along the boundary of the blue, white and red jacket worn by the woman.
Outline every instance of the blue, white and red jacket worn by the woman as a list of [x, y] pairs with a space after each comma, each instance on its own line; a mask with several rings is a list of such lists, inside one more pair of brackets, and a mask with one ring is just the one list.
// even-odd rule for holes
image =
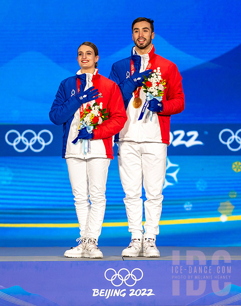
[[[90, 101], [92, 106], [95, 101], [98, 105], [102, 102], [103, 109], [109, 113], [108, 120], [98, 125], [93, 130], [93, 138], [89, 140], [88, 152], [82, 152], [82, 140], [77, 144], [72, 141], [78, 135], [80, 124], [81, 100], [77, 96], [80, 92], [94, 86], [99, 91], [99, 97]], [[83, 104], [83, 108], [87, 104]], [[98, 74], [95, 69], [94, 74], [81, 73], [81, 69], [74, 77], [63, 80], [57, 91], [54, 103], [50, 111], [50, 119], [57, 125], [63, 124], [63, 147], [62, 158], [110, 158], [113, 159], [112, 136], [122, 130], [127, 115], [123, 103], [121, 91], [115, 82]]]

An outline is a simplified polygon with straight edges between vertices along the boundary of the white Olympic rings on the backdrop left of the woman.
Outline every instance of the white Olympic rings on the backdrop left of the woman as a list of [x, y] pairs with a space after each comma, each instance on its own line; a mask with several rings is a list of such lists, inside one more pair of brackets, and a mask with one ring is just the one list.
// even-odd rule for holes
[[[8, 140], [8, 136], [9, 136], [9, 134], [11, 134], [11, 133], [17, 134], [17, 137], [14, 139], [13, 142], [10, 142], [10, 141]], [[33, 135], [33, 137], [32, 137], [30, 140], [28, 140], [28, 139], [25, 137], [25, 135], [26, 135], [27, 133], [31, 133], [31, 134]], [[40, 137], [40, 135], [41, 135], [42, 133], [47, 133], [47, 134], [49, 134], [49, 135], [50, 135], [50, 140], [47, 141], [47, 142], [45, 142], [44, 139], [43, 139], [42, 137]], [[15, 149], [17, 152], [25, 152], [29, 147], [30, 147], [30, 149], [31, 149], [33, 152], [41, 152], [41, 151], [44, 149], [45, 145], [49, 145], [49, 144], [53, 141], [53, 138], [54, 138], [54, 137], [53, 137], [53, 134], [52, 134], [49, 130], [42, 130], [42, 131], [40, 131], [40, 132], [38, 133], [38, 135], [37, 135], [33, 130], [26, 130], [26, 131], [24, 131], [24, 132], [22, 133], [22, 135], [20, 135], [20, 133], [19, 133], [18, 131], [16, 131], [16, 130], [10, 130], [10, 131], [8, 131], [7, 134], [5, 135], [5, 140], [6, 140], [6, 142], [7, 142], [9, 145], [12, 145], [12, 146], [14, 147], [14, 149]], [[25, 148], [23, 148], [23, 149], [18, 149], [18, 148], [17, 148], [17, 145], [19, 144], [20, 141], [22, 141], [22, 143], [26, 145]], [[41, 147], [40, 147], [39, 149], [33, 148], [33, 144], [35, 144], [36, 141], [38, 141], [39, 144], [41, 144]]]

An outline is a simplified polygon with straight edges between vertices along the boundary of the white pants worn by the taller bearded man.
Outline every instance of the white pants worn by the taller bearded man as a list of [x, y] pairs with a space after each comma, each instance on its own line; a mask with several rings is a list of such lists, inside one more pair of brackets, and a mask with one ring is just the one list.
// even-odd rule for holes
[[[121, 141], [119, 174], [126, 197], [124, 202], [129, 232], [134, 238], [156, 238], [162, 209], [162, 187], [165, 180], [167, 145], [157, 142]], [[146, 222], [142, 227], [142, 183], [147, 200], [144, 202]]]

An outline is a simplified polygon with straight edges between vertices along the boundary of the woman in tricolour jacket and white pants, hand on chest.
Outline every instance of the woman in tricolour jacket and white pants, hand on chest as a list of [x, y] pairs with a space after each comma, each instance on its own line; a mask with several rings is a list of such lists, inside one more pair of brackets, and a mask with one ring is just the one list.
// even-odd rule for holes
[[[51, 121], [63, 124], [62, 157], [67, 162], [80, 226], [78, 246], [66, 250], [64, 256], [103, 258], [97, 245], [106, 206], [108, 167], [113, 159], [112, 136], [122, 130], [127, 116], [118, 86], [98, 73], [97, 47], [83, 42], [77, 60], [81, 69], [61, 82], [50, 111]], [[109, 114], [91, 132], [80, 125], [80, 119], [84, 109], [95, 102], [102, 103]]]

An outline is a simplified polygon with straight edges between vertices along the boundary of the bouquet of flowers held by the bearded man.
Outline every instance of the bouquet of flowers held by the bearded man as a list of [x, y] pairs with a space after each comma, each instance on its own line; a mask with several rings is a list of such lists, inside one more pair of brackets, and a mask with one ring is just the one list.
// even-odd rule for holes
[[[146, 103], [144, 104], [139, 119], [141, 120], [144, 113], [146, 113], [146, 109], [149, 105], [149, 101], [153, 98], [156, 98], [159, 102], [162, 100], [162, 96], [164, 94], [164, 89], [166, 88], [166, 82], [165, 80], [162, 80], [161, 78], [161, 72], [160, 67], [157, 67], [157, 69], [153, 70], [152, 73], [150, 73], [149, 77], [147, 78], [146, 75], [143, 75], [144, 82], [143, 83], [143, 91], [146, 92]], [[150, 111], [151, 121], [153, 112]]]

